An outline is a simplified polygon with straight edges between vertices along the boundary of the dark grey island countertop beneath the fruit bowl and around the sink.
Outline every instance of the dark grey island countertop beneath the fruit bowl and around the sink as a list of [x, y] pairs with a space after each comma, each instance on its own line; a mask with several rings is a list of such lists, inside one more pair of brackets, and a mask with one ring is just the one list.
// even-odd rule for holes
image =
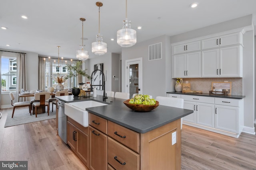
[[[79, 97], [75, 99], [73, 96], [56, 96], [56, 98], [62, 102], [80, 102], [85, 100], [103, 102], [103, 97], [100, 95], [97, 95], [96, 98]], [[192, 110], [161, 105], [150, 112], [135, 112], [126, 107], [123, 104], [124, 101], [123, 99], [108, 97], [106, 103], [109, 105], [90, 107], [86, 108], [86, 110], [138, 133], [146, 133], [193, 113]]]

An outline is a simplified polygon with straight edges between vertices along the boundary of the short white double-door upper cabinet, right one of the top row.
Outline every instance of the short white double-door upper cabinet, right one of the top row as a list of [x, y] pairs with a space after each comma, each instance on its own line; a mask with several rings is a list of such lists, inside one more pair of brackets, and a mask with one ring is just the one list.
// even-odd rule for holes
[[201, 40], [201, 49], [212, 49], [229, 45], [242, 45], [242, 33], [230, 33]]

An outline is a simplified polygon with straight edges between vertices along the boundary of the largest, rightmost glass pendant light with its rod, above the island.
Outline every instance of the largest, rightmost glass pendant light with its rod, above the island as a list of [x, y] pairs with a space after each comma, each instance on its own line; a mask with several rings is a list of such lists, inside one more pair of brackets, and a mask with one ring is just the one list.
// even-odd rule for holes
[[136, 44], [136, 31], [131, 29], [131, 21], [127, 18], [127, 0], [126, 0], [126, 18], [123, 21], [123, 29], [119, 29], [116, 33], [117, 43], [121, 47], [132, 47]]

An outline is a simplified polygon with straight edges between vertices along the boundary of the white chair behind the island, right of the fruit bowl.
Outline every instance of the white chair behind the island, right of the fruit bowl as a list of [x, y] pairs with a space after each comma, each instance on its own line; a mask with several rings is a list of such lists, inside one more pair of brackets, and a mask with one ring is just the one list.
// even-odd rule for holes
[[[182, 109], [184, 106], [184, 99], [182, 98], [170, 98], [165, 96], [157, 96], [156, 101], [158, 101], [159, 104], [163, 106], [178, 107]], [[180, 119], [180, 129], [182, 129], [182, 118]]]

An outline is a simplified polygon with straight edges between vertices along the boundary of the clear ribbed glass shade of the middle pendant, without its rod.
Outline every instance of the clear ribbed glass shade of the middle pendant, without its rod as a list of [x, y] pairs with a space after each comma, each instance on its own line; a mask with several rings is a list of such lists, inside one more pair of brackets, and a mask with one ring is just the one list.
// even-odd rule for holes
[[102, 34], [96, 35], [96, 42], [92, 43], [92, 53], [95, 55], [104, 55], [107, 53], [107, 43], [103, 42]]

